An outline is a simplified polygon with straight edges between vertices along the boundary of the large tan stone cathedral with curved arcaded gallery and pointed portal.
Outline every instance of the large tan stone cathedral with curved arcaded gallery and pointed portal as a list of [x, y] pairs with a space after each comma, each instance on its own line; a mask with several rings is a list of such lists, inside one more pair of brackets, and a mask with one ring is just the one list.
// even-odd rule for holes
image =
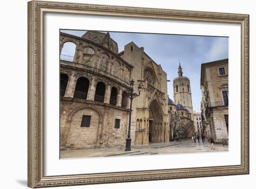
[[[74, 44], [74, 56], [62, 53], [67, 43]], [[135, 93], [139, 85], [142, 87], [132, 103], [132, 145], [168, 141], [167, 74], [161, 65], [133, 42], [118, 52], [109, 33], [87, 31], [77, 37], [61, 32], [61, 150], [124, 148], [130, 104], [127, 92], [132, 79]], [[184, 85], [188, 84], [184, 80]], [[175, 101], [179, 100], [187, 103], [182, 95], [175, 95]]]

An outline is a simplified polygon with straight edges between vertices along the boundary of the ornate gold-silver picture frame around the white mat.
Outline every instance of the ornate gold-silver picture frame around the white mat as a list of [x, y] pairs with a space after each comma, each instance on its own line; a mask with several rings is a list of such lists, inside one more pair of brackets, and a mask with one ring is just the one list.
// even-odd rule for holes
[[[225, 166], [46, 176], [44, 160], [44, 16], [46, 13], [177, 21], [200, 21], [208, 23], [229, 23], [240, 25], [241, 163]], [[28, 2], [27, 156], [27, 178], [28, 186], [31, 188], [249, 174], [249, 15], [47, 1]]]

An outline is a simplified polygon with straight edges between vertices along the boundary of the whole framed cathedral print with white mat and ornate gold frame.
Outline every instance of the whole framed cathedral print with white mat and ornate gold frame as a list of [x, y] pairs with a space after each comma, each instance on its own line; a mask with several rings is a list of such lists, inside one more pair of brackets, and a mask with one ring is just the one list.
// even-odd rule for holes
[[28, 2], [29, 187], [238, 174], [249, 15]]

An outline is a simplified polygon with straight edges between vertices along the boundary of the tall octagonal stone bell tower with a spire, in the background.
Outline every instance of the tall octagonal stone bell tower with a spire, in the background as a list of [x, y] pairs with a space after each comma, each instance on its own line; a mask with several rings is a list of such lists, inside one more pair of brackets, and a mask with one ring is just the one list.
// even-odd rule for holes
[[182, 104], [191, 113], [191, 120], [193, 120], [193, 105], [192, 105], [192, 93], [190, 88], [189, 78], [183, 76], [181, 63], [178, 67], [178, 77], [173, 80], [173, 94], [175, 104]]

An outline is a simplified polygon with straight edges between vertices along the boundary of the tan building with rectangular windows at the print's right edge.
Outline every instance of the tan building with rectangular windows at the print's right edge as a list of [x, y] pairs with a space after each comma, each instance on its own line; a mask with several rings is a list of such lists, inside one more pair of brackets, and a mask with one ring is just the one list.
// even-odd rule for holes
[[201, 65], [202, 119], [205, 135], [216, 142], [229, 137], [229, 59]]

